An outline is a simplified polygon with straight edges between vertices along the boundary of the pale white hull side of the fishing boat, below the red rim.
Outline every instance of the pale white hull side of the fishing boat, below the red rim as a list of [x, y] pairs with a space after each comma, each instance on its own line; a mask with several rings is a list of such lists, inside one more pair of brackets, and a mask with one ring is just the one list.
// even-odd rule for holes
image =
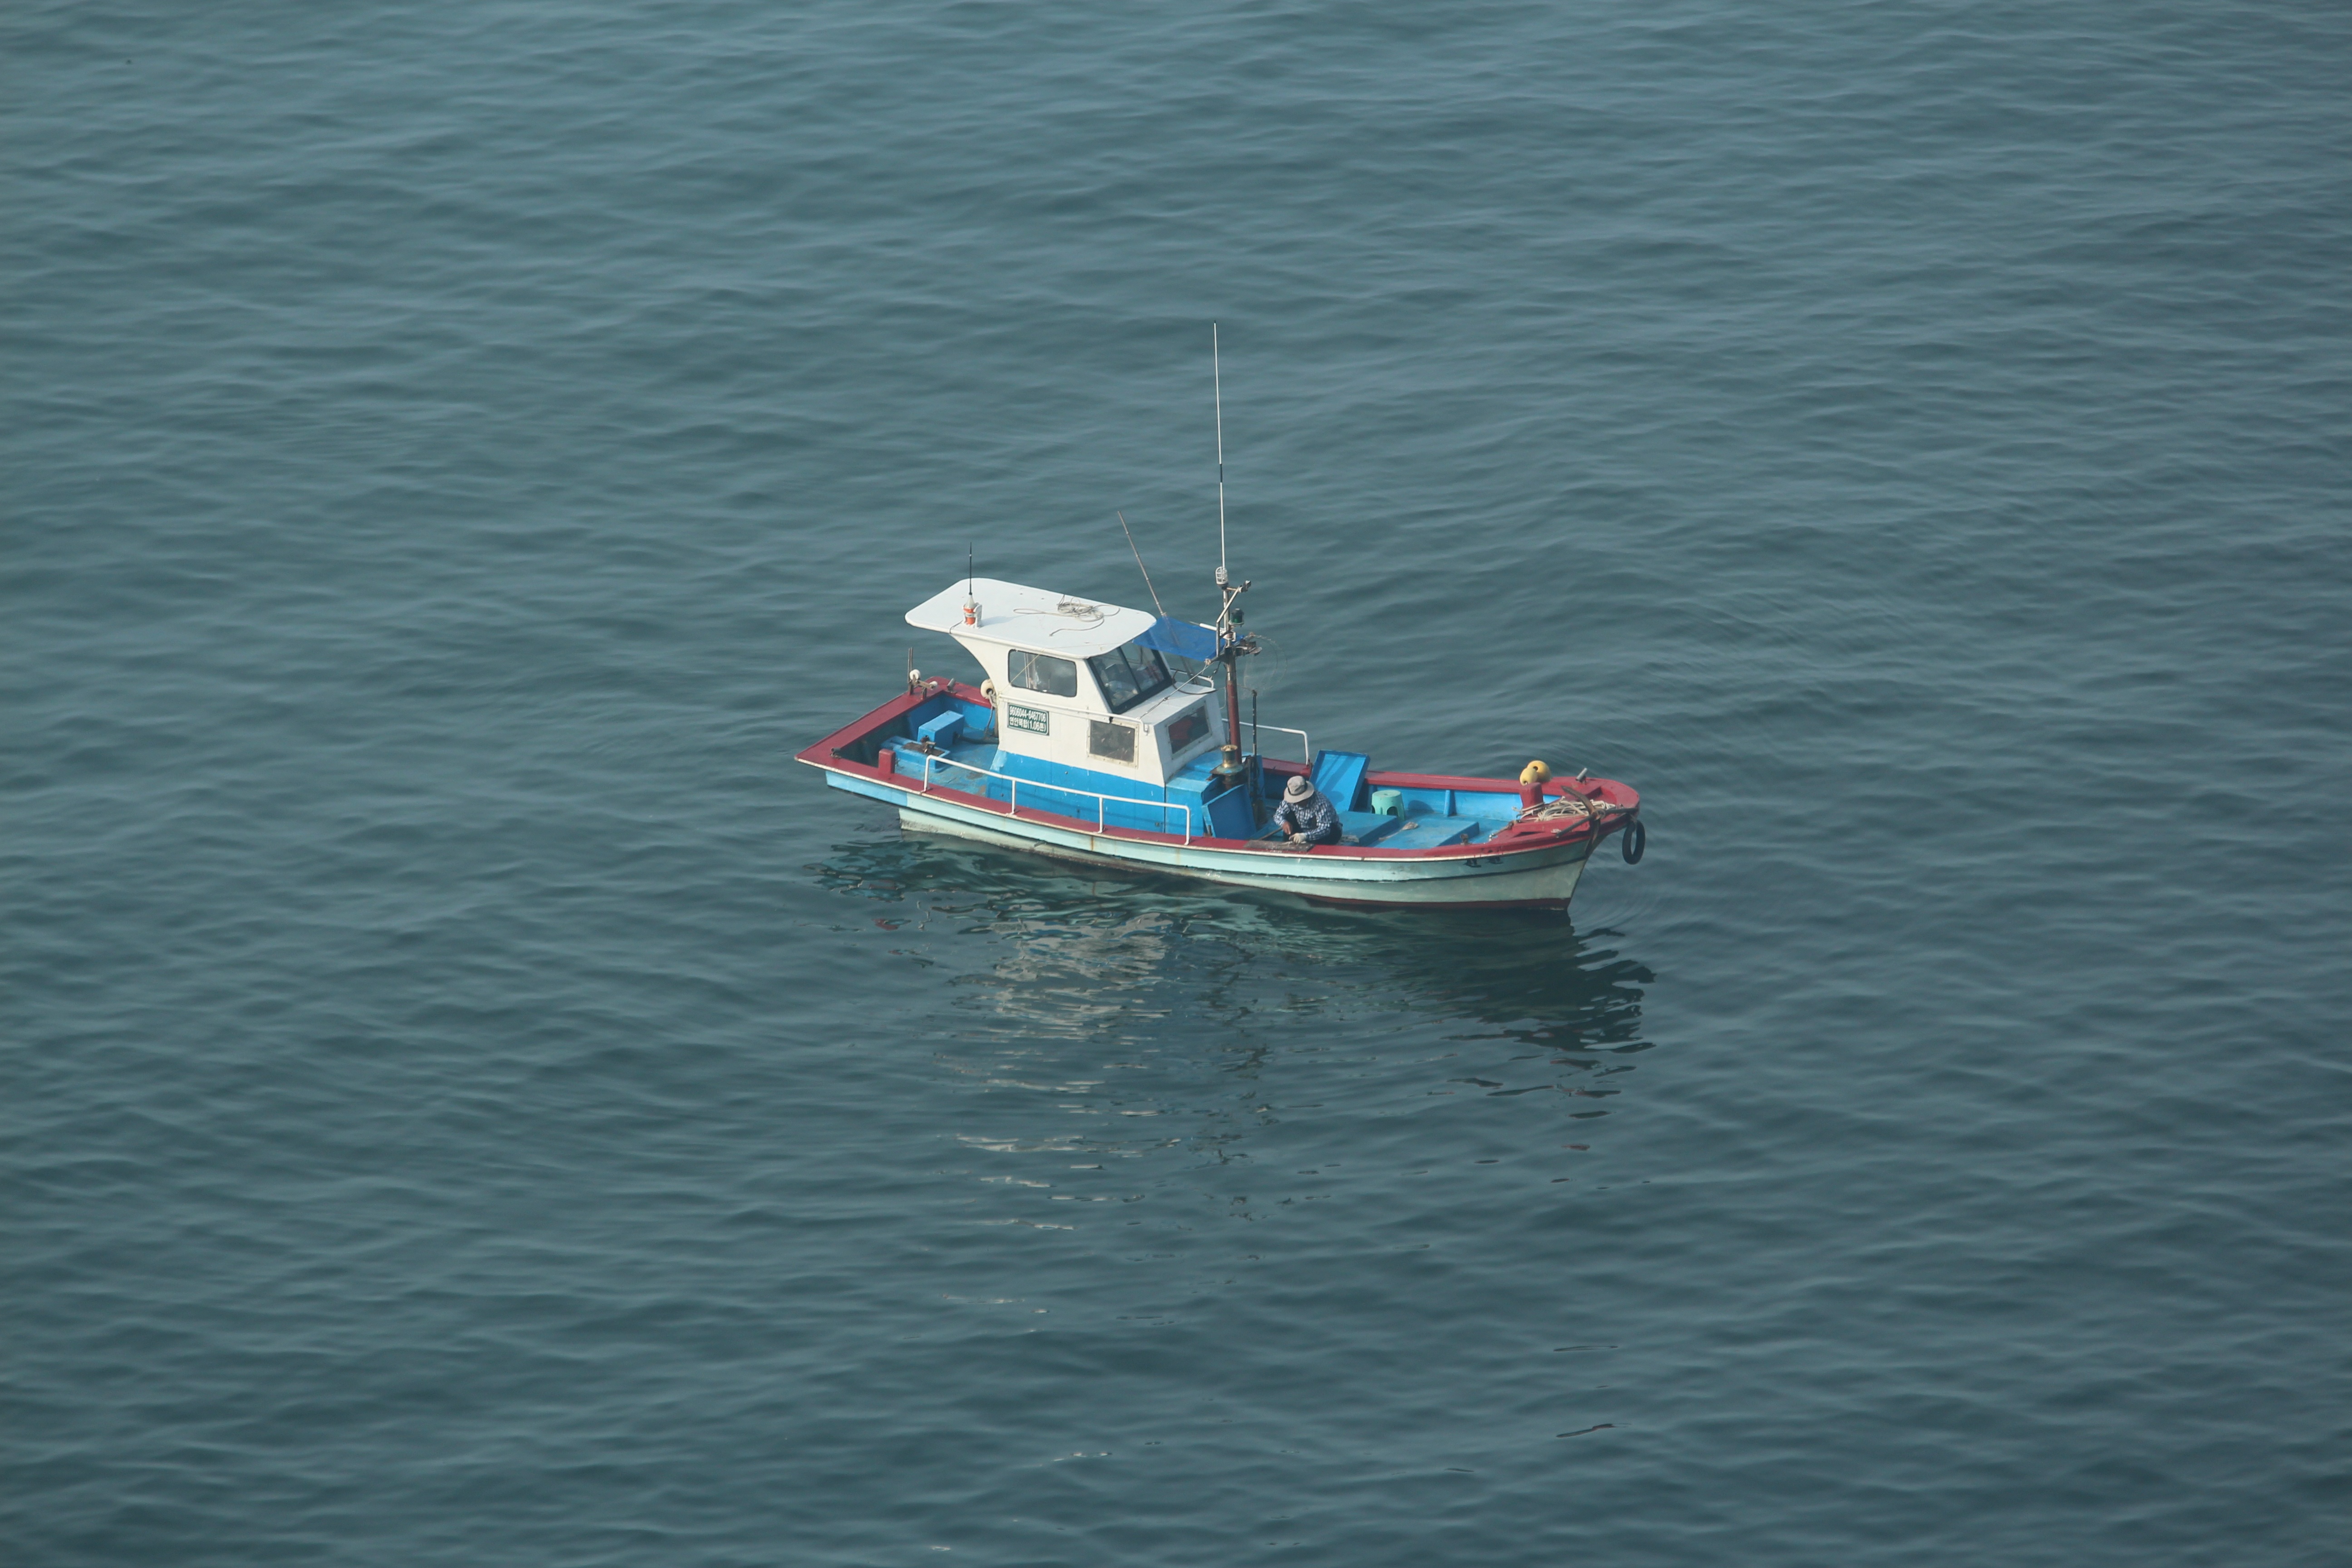
[[[840, 773], [833, 776], [842, 780]], [[941, 795], [877, 790], [866, 780], [842, 780], [858, 795], [896, 797], [898, 823], [913, 832], [938, 832], [1004, 849], [1023, 849], [1080, 865], [1200, 877], [1228, 886], [1296, 893], [1329, 903], [1378, 905], [1559, 905], [1576, 893], [1590, 844], [1512, 851], [1508, 856], [1449, 856], [1404, 860], [1350, 856], [1345, 849], [1287, 853], [1279, 849], [1209, 849], [1162, 844], [1101, 832], [1075, 832], [1047, 823], [1007, 820], [1002, 811], [978, 811]], [[920, 802], [920, 804], [917, 804]]]

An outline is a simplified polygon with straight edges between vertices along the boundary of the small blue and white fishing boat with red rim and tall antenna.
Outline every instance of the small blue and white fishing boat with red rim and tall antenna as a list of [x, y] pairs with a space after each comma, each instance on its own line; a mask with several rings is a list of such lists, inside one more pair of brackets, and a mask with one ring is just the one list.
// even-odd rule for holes
[[[1244, 630], [1249, 581], [1223, 562], [1223, 444], [1218, 383], [1214, 625], [976, 578], [967, 564], [906, 621], [960, 642], [981, 684], [910, 668], [898, 696], [797, 759], [835, 790], [896, 806], [908, 830], [1319, 903], [1564, 910], [1604, 839], [1637, 863], [1642, 797], [1613, 778], [1552, 778], [1541, 759], [1519, 778], [1383, 771], [1369, 752], [1261, 726], [1256, 693], [1244, 724], [1244, 661], [1261, 644]], [[1143, 583], [1157, 607], [1148, 569]], [[1287, 755], [1268, 755], [1268, 736]], [[1303, 842], [1279, 820], [1294, 778], [1329, 802], [1334, 842]]]

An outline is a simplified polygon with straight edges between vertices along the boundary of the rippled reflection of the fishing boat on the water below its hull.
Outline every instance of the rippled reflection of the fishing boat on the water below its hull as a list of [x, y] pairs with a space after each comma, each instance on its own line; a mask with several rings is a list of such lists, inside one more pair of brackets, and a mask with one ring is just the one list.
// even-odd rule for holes
[[1649, 1048], [1651, 973], [1557, 914], [1432, 929], [917, 837], [837, 846], [818, 875], [936, 964], [936, 1016], [891, 1034], [981, 1093], [976, 1147], [1218, 1150], [1308, 1114], [1404, 1133], [1432, 1098], [1484, 1098], [1545, 1112], [1508, 1138], [1557, 1150]]

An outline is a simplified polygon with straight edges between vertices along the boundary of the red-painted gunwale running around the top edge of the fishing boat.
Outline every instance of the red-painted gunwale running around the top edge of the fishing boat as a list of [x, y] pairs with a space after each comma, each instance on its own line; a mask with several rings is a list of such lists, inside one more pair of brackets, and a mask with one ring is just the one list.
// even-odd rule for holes
[[[870, 731], [880, 729], [882, 724], [889, 724], [891, 719], [896, 719], [903, 712], [910, 712], [910, 710], [929, 703], [934, 696], [955, 696], [955, 698], [962, 698], [967, 703], [978, 703], [983, 708], [995, 708], [995, 703], [990, 703], [985, 696], [981, 696], [978, 689], [974, 689], [974, 686], [967, 686], [962, 682], [941, 682], [938, 691], [922, 691], [922, 693], [908, 691], [903, 696], [896, 696], [896, 698], [882, 703], [880, 708], [875, 708], [866, 717], [851, 719], [849, 724], [844, 724], [842, 729], [833, 731], [830, 736], [826, 736], [816, 745], [809, 745], [809, 748], [804, 748], [800, 752], [793, 752], [793, 762], [807, 762], [811, 769], [826, 769], [826, 771], [849, 773], [854, 778], [873, 778], [875, 783], [906, 790], [908, 795], [929, 795], [929, 790], [922, 790], [922, 788], [908, 783], [906, 773], [884, 773], [882, 769], [870, 766], [866, 762], [851, 762], [849, 757], [840, 755], [840, 748], [851, 745], [851, 743], [866, 738]], [[1303, 762], [1275, 762], [1275, 759], [1265, 759], [1258, 766], [1263, 771], [1268, 771], [1268, 773], [1305, 773], [1308, 771], [1308, 764], [1303, 764]], [[1472, 778], [1472, 776], [1465, 776], [1465, 773], [1388, 773], [1388, 771], [1374, 771], [1374, 773], [1367, 773], [1367, 783], [1374, 785], [1374, 788], [1381, 788], [1381, 790], [1388, 790], [1388, 788], [1404, 788], [1404, 790], [1479, 790], [1479, 792], [1498, 792], [1498, 795], [1517, 795], [1517, 790], [1519, 790], [1519, 780], [1517, 778]], [[1639, 806], [1642, 806], [1642, 797], [1635, 795], [1632, 785], [1618, 783], [1616, 778], [1588, 778], [1588, 780], [1583, 780], [1588, 785], [1583, 790], [1576, 790], [1573, 783], [1576, 780], [1550, 783], [1550, 785], [1543, 788], [1543, 795], [1548, 799], [1562, 799], [1564, 795], [1569, 795], [1573, 790], [1576, 795], [1583, 795], [1585, 799], [1604, 799], [1604, 802], [1616, 804], [1616, 806], [1632, 806], [1635, 811], [1639, 811]], [[1037, 785], [1037, 788], [1049, 790], [1051, 785]], [[1131, 839], [1136, 844], [1174, 844], [1178, 849], [1183, 849], [1188, 844], [1188, 839], [1181, 832], [1150, 832], [1148, 827], [1096, 827], [1094, 823], [1089, 823], [1082, 816], [1061, 816], [1058, 811], [1037, 811], [1037, 809], [1014, 811], [1009, 802], [995, 802], [995, 799], [988, 799], [985, 795], [967, 795], [962, 790], [943, 790], [943, 795], [948, 799], [953, 799], [955, 804], [967, 806], [971, 811], [995, 811], [997, 816], [1011, 818], [1016, 823], [1040, 823], [1040, 825], [1047, 825], [1047, 827], [1065, 827], [1065, 830], [1084, 832], [1084, 835], [1096, 837], [1096, 839]], [[1623, 827], [1630, 820], [1632, 820], [1632, 813], [1621, 816], [1613, 823], [1602, 825], [1599, 837], [1606, 839], [1611, 832], [1616, 832], [1618, 827]], [[1484, 839], [1479, 844], [1442, 844], [1442, 846], [1435, 846], [1435, 849], [1381, 849], [1376, 844], [1374, 846], [1315, 844], [1305, 853], [1310, 853], [1310, 856], [1315, 856], [1315, 853], [1331, 856], [1331, 851], [1345, 851], [1343, 856], [1331, 856], [1331, 858], [1348, 858], [1348, 860], [1491, 860], [1491, 858], [1501, 858], [1501, 856], [1524, 856], [1524, 853], [1534, 853], [1538, 849], [1552, 849], [1557, 844], [1571, 844], [1571, 842], [1590, 837], [1590, 835], [1592, 835], [1592, 825], [1588, 820], [1578, 818], [1576, 823], [1559, 825], [1559, 827], [1538, 825], [1538, 823], [1512, 823], [1510, 827], [1503, 827], [1491, 839]], [[1256, 844], [1256, 839], [1211, 839], [1207, 835], [1192, 835], [1190, 844], [1204, 844], [1209, 849], [1237, 849], [1237, 851], [1247, 853], [1249, 846]], [[1597, 846], [1599, 844], [1595, 844], [1595, 849]]]

